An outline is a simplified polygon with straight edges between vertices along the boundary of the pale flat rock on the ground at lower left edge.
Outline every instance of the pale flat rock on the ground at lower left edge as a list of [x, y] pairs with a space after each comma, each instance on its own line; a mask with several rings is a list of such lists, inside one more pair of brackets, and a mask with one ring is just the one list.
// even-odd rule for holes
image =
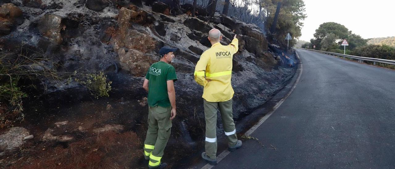
[[14, 127], [0, 135], [0, 156], [11, 154], [22, 146], [24, 137], [29, 136], [30, 133], [25, 128]]

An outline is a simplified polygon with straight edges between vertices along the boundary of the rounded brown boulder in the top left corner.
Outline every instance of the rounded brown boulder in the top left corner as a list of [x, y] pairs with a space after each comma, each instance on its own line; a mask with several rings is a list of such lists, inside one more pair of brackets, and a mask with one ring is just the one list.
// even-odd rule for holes
[[0, 6], [0, 35], [9, 34], [15, 26], [22, 24], [23, 12], [14, 4]]

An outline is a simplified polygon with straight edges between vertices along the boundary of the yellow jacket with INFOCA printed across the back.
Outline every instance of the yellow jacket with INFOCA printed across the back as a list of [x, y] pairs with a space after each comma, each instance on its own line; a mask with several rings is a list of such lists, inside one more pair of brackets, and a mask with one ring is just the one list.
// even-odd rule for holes
[[[228, 101], [233, 98], [231, 85], [233, 54], [239, 50], [239, 40], [227, 45], [214, 43], [201, 54], [195, 68], [195, 81], [204, 86], [203, 98], [210, 102]], [[211, 80], [208, 82], [207, 80]]]

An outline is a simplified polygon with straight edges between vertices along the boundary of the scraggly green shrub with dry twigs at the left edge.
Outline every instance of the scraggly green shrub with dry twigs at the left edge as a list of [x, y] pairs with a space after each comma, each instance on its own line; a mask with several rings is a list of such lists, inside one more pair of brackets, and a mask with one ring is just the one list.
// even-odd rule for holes
[[55, 68], [45, 55], [30, 49], [0, 51], [0, 128], [12, 127], [24, 119], [22, 99], [27, 94], [19, 80], [57, 79]]

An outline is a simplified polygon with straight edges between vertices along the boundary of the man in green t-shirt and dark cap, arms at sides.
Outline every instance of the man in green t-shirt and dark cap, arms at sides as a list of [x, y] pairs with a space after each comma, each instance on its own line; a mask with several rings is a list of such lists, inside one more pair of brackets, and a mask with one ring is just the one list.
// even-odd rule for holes
[[144, 142], [144, 158], [149, 160], [150, 169], [167, 166], [160, 159], [170, 137], [171, 120], [177, 114], [174, 90], [177, 75], [169, 64], [174, 58], [173, 52], [177, 50], [162, 47], [159, 51], [160, 61], [150, 66], [143, 84], [148, 92], [148, 131]]

